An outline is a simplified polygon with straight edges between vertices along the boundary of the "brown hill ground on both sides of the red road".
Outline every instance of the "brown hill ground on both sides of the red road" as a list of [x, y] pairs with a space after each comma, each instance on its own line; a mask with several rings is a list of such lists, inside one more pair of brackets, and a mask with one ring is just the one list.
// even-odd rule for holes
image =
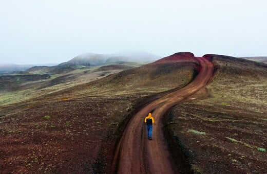
[[[266, 64], [204, 57], [216, 69], [206, 90], [166, 113], [163, 128], [171, 154], [182, 163], [177, 165], [195, 172], [264, 172]], [[192, 53], [142, 66], [120, 62], [87, 68], [1, 93], [3, 172], [110, 171], [131, 116], [192, 82], [201, 69]]]

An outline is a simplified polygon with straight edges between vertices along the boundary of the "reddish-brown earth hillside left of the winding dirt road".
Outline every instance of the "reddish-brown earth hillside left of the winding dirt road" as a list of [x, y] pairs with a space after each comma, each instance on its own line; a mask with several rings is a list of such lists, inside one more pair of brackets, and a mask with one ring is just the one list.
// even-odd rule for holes
[[[73, 78], [74, 86], [36, 82], [37, 89], [27, 93], [27, 98], [0, 107], [1, 172], [108, 171], [117, 138], [131, 113], [159, 93], [188, 84], [194, 66], [184, 62], [148, 64], [104, 78], [97, 76], [101, 78], [89, 83]], [[65, 88], [60, 86], [64, 84]]]

